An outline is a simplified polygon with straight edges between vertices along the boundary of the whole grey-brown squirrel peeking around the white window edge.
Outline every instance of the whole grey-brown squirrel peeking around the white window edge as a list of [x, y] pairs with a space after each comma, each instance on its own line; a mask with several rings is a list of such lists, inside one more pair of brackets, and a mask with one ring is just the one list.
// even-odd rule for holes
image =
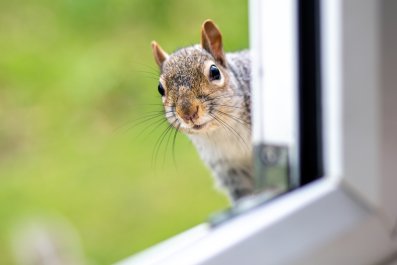
[[212, 20], [202, 24], [201, 44], [172, 54], [151, 46], [168, 122], [190, 138], [232, 203], [253, 194], [249, 51], [225, 53]]

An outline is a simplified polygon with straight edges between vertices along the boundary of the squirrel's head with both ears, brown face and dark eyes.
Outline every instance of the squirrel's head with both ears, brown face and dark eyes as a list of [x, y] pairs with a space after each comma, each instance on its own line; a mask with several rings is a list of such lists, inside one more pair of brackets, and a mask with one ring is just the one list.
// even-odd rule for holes
[[206, 133], [228, 124], [234, 91], [222, 35], [212, 20], [202, 25], [201, 44], [168, 55], [153, 41], [152, 50], [161, 71], [158, 91], [165, 116], [175, 128]]

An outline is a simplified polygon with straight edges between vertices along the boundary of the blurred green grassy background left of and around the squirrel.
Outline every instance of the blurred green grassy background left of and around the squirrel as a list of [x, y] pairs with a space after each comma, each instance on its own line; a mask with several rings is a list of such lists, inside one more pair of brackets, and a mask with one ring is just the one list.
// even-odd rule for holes
[[0, 264], [31, 216], [62, 215], [109, 264], [227, 206], [186, 137], [152, 161], [165, 127], [133, 126], [161, 109], [150, 41], [197, 43], [207, 18], [248, 46], [246, 1], [0, 1]]

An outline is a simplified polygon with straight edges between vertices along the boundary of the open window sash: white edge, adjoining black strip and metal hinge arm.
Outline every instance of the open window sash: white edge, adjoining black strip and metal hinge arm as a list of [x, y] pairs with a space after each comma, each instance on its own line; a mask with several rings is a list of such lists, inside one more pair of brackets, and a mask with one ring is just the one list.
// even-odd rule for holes
[[256, 196], [215, 224], [323, 175], [319, 2], [251, 1]]

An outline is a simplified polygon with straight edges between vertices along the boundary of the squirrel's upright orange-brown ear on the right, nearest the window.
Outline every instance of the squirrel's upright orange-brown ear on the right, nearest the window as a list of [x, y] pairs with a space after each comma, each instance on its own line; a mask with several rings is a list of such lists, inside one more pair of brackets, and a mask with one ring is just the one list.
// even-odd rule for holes
[[222, 34], [214, 21], [207, 19], [201, 26], [201, 46], [214, 56], [215, 60], [225, 66]]

